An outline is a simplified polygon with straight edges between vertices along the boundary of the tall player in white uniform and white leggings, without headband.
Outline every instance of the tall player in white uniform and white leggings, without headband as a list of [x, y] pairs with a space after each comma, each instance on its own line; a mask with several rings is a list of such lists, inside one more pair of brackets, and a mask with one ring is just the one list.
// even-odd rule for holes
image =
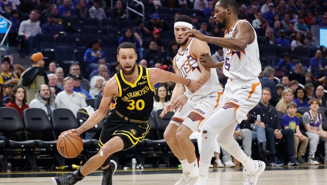
[[237, 12], [238, 4], [234, 0], [220, 0], [216, 3], [214, 17], [218, 27], [226, 28], [224, 38], [208, 37], [194, 29], [184, 33], [224, 47], [223, 62], [214, 63], [208, 53], [204, 53], [201, 63], [207, 67], [223, 67], [223, 73], [228, 77], [222, 108], [215, 112], [202, 128], [199, 177], [196, 184], [206, 183], [217, 134], [221, 147], [244, 165], [243, 171], [247, 175], [245, 185], [257, 184], [266, 167], [264, 162], [247, 157], [233, 139], [236, 125], [247, 118], [247, 113], [258, 104], [261, 97], [261, 84], [258, 79], [261, 64], [257, 36], [248, 21], [238, 20]]

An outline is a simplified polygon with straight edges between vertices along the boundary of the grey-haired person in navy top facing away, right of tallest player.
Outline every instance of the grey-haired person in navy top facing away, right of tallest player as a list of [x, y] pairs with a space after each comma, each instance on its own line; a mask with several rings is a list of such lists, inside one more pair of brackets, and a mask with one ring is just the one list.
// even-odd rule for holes
[[274, 73], [275, 73], [275, 69], [270, 66], [267, 66], [264, 69], [264, 77], [260, 80], [262, 88], [267, 87], [270, 89], [272, 98], [271, 100], [269, 98], [270, 100], [269, 103], [272, 106], [276, 106], [276, 104], [279, 102], [279, 98], [277, 96], [277, 86], [276, 83], [273, 82]]

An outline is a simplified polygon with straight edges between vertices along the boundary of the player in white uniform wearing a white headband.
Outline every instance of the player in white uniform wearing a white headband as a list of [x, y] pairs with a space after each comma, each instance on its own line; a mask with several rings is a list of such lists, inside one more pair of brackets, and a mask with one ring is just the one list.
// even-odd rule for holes
[[181, 179], [175, 185], [196, 182], [198, 162], [195, 147], [189, 137], [193, 132], [200, 131], [206, 120], [220, 108], [219, 101], [223, 94], [216, 70], [203, 67], [199, 62], [202, 53], [210, 53], [207, 43], [183, 35], [184, 31], [192, 28], [193, 23], [190, 17], [181, 15], [176, 18], [174, 33], [176, 42], [181, 48], [173, 59], [173, 67], [176, 74], [187, 79], [198, 80], [202, 86], [197, 91], [189, 91], [184, 85], [177, 83], [169, 104], [161, 113], [163, 117], [168, 111], [175, 108], [177, 110], [163, 135], [183, 166]]

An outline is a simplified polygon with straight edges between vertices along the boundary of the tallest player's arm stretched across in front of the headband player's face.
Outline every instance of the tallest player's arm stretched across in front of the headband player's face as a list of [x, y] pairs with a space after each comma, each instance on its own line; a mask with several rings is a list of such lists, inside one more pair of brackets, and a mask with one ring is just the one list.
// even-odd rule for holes
[[193, 34], [197, 39], [201, 41], [210, 42], [221, 47], [232, 49], [234, 51], [244, 51], [245, 47], [249, 44], [250, 35], [254, 34], [254, 31], [251, 28], [249, 22], [242, 21], [238, 23], [235, 29], [236, 35], [234, 38], [209, 37], [203, 35], [196, 29], [186, 30], [184, 35], [189, 33]]

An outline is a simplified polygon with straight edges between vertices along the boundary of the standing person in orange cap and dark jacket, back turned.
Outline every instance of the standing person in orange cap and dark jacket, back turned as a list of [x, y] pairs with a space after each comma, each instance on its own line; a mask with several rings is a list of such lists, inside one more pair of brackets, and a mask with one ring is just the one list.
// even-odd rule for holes
[[44, 59], [42, 53], [34, 53], [31, 56], [32, 67], [26, 69], [18, 81], [26, 91], [27, 104], [34, 99], [36, 89], [42, 84], [48, 84], [49, 79], [44, 71]]

